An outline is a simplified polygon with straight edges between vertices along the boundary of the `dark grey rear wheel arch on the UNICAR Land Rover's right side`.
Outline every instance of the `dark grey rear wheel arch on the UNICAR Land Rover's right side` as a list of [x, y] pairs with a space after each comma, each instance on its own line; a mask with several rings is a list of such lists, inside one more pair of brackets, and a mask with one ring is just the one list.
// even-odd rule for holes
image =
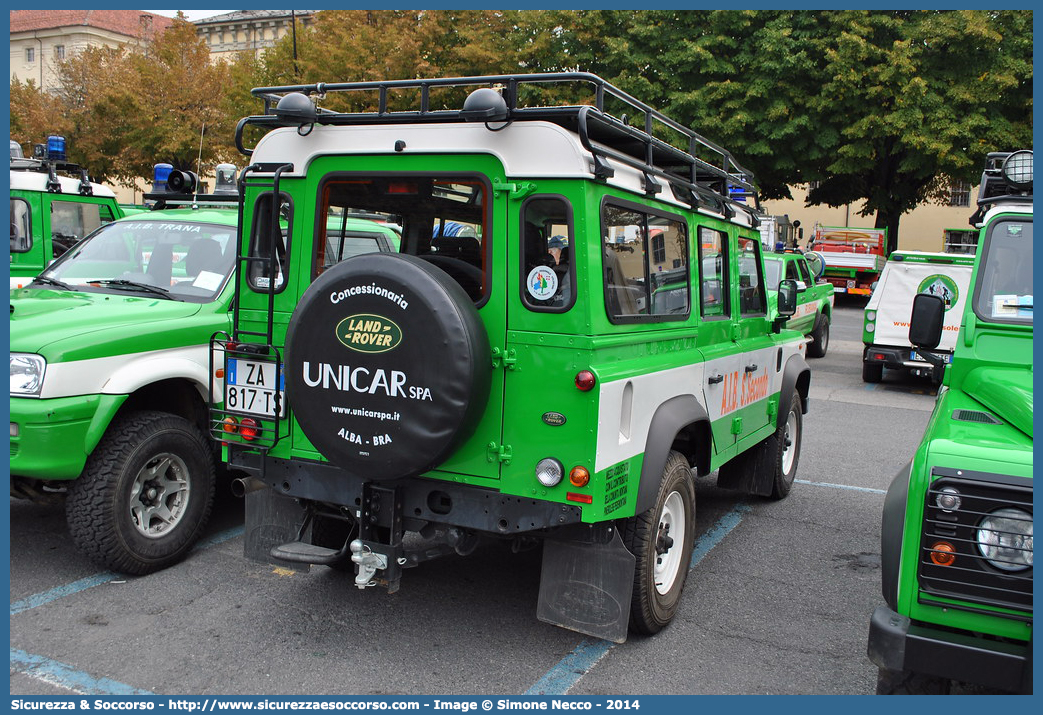
[[642, 514], [655, 503], [659, 479], [672, 450], [681, 452], [699, 474], [708, 474], [709, 440], [709, 415], [695, 395], [677, 395], [662, 402], [649, 423], [634, 513]]

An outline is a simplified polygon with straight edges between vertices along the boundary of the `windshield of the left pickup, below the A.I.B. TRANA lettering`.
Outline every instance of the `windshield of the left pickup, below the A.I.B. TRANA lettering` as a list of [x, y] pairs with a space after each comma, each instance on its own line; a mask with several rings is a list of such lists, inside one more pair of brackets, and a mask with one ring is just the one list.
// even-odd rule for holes
[[235, 226], [151, 219], [98, 229], [40, 274], [42, 288], [213, 300], [232, 271]]

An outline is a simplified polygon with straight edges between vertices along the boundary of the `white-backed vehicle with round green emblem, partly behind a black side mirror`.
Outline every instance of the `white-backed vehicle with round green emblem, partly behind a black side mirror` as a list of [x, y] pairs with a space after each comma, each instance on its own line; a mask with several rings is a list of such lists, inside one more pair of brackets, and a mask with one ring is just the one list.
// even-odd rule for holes
[[918, 355], [909, 343], [913, 297], [930, 293], [945, 301], [942, 340], [932, 351], [948, 364], [960, 334], [960, 320], [971, 280], [974, 256], [965, 253], [895, 251], [866, 304], [862, 342], [862, 378], [879, 383], [883, 368], [913, 370], [942, 381], [943, 368], [935, 369]]

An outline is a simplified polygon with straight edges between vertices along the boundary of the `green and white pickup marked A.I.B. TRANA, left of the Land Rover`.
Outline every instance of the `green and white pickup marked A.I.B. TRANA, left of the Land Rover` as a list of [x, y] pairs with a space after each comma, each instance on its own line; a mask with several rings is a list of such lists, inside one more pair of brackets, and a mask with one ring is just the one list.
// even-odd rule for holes
[[65, 495], [73, 541], [104, 567], [169, 566], [210, 515], [208, 343], [231, 324], [237, 220], [119, 219], [10, 292], [11, 495]]

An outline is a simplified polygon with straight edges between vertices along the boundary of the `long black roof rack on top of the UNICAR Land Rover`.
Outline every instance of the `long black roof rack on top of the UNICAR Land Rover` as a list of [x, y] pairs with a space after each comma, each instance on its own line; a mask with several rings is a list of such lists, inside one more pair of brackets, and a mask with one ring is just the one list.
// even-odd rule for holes
[[[549, 83], [591, 85], [588, 89], [592, 89], [593, 103], [556, 106], [522, 105], [519, 96], [524, 88]], [[466, 108], [432, 108], [432, 89], [456, 87], [494, 89], [503, 97], [506, 114], [489, 119], [476, 116]], [[407, 110], [391, 109], [389, 93], [403, 90], [418, 91], [418, 106]], [[280, 103], [288, 95], [302, 94], [309, 98], [314, 96], [323, 99], [329, 93], [338, 92], [375, 93], [377, 109], [333, 112], [316, 106], [309, 115], [311, 107], [305, 107], [305, 112], [301, 113], [301, 107], [297, 104], [293, 107], [295, 112], [280, 113]], [[247, 125], [274, 128], [304, 127], [314, 123], [344, 126], [485, 121], [487, 125], [503, 122], [506, 126], [516, 121], [547, 121], [579, 134], [584, 149], [589, 151], [593, 158], [593, 173], [598, 178], [606, 179], [612, 175], [612, 168], [605, 162], [606, 158], [611, 158], [642, 172], [644, 188], [649, 195], [662, 191], [662, 186], [657, 180], [662, 179], [673, 187], [682, 200], [694, 207], [698, 205], [714, 207], [729, 217], [738, 209], [748, 213], [754, 223], [758, 220], [756, 212], [759, 211], [759, 199], [753, 174], [743, 168], [728, 150], [635, 99], [598, 75], [586, 72], [318, 82], [257, 88], [252, 94], [264, 100], [265, 114], [246, 117], [236, 127], [236, 146], [247, 156], [252, 153], [251, 149], [245, 148], [242, 144], [243, 129]], [[545, 97], [547, 93], [542, 96]], [[618, 118], [609, 114], [605, 106], [606, 99], [620, 103], [626, 112], [635, 113], [639, 118], [636, 123], [640, 126], [632, 125], [631, 118], [626, 114]], [[673, 134], [675, 143], [684, 146], [675, 146], [657, 133]], [[752, 199], [753, 205], [747, 205], [746, 199]]]

